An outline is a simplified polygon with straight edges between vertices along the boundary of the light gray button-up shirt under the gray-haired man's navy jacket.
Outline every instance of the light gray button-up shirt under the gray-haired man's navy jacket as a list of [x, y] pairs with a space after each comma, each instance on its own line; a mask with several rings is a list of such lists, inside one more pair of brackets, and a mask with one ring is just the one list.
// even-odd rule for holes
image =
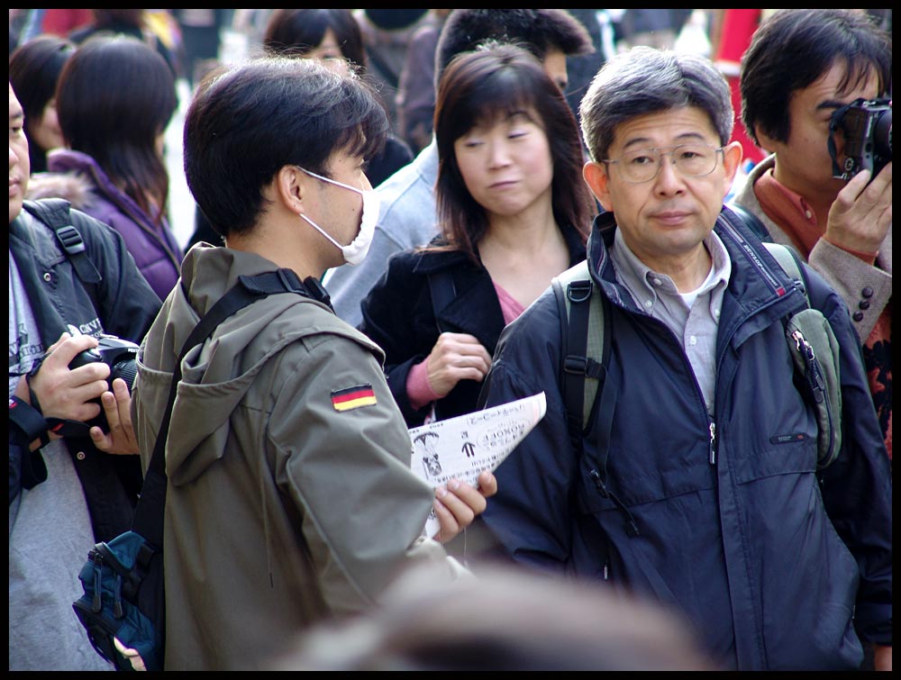
[[629, 291], [635, 304], [666, 323], [679, 340], [704, 395], [707, 413], [713, 415], [716, 331], [723, 294], [732, 273], [732, 261], [723, 241], [713, 231], [704, 240], [704, 245], [713, 263], [704, 283], [690, 293], [679, 293], [670, 277], [647, 267], [626, 245], [620, 230], [614, 234], [610, 256], [616, 280]]

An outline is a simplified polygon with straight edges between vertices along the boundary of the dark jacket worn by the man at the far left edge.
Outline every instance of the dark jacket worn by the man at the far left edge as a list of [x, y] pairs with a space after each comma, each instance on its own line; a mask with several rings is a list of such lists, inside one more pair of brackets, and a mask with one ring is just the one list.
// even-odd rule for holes
[[[85, 241], [98, 283], [85, 285], [59, 248], [53, 231], [24, 209], [9, 225], [9, 249], [22, 277], [41, 329], [45, 348], [70, 331], [109, 333], [139, 343], [159, 313], [159, 297], [141, 276], [118, 232], [84, 213], [71, 212]], [[12, 350], [11, 350], [12, 351]], [[17, 436], [19, 435], [19, 436]], [[29, 452], [16, 428], [9, 428], [10, 502], [20, 485], [43, 481], [40, 453]], [[115, 456], [94, 446], [90, 437], [66, 440], [85, 492], [96, 540], [112, 539], [132, 528], [132, 512], [141, 491], [138, 456]]]

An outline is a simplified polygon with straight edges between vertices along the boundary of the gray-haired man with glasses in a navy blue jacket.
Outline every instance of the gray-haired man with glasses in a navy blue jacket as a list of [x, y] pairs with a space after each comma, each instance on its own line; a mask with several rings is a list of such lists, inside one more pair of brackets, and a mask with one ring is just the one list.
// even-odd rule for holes
[[874, 643], [890, 665], [891, 476], [860, 346], [842, 297], [803, 266], [841, 346], [842, 449], [818, 468], [784, 327], [804, 291], [724, 210], [742, 160], [724, 78], [636, 47], [601, 68], [580, 114], [606, 211], [587, 276], [609, 358], [582, 358], [599, 385], [570, 435], [555, 295], [507, 327], [480, 403], [543, 391], [548, 408], [496, 470], [480, 539], [665, 603], [725, 668], [855, 669]]

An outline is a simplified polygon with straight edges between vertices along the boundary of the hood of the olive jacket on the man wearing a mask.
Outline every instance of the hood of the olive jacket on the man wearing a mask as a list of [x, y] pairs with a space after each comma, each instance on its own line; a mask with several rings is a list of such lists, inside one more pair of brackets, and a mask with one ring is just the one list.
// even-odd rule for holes
[[[153, 414], [153, 422], [161, 421], [177, 356], [201, 316], [238, 284], [239, 276], [276, 268], [257, 255], [207, 244], [188, 251], [180, 285], [168, 295], [139, 355], [139, 398]], [[222, 458], [232, 412], [270, 357], [302, 336], [341, 330], [340, 320], [325, 304], [292, 294], [272, 295], [269, 300], [278, 302], [250, 304], [222, 322], [214, 340], [188, 351], [170, 423], [170, 431], [178, 436], [169, 438], [166, 448], [167, 475], [173, 484], [187, 483]], [[299, 328], [296, 315], [286, 314], [296, 304], [314, 304], [323, 313], [315, 315], [312, 325]], [[360, 335], [349, 326], [342, 331]]]

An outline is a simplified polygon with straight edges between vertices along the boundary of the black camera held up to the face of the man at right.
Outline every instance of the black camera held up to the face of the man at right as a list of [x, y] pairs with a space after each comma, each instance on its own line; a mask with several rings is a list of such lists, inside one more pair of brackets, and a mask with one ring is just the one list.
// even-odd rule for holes
[[[844, 160], [835, 153], [835, 131], [844, 137]], [[829, 123], [829, 154], [833, 177], [851, 179], [860, 170], [876, 177], [892, 159], [891, 99], [857, 99], [833, 113]]]

